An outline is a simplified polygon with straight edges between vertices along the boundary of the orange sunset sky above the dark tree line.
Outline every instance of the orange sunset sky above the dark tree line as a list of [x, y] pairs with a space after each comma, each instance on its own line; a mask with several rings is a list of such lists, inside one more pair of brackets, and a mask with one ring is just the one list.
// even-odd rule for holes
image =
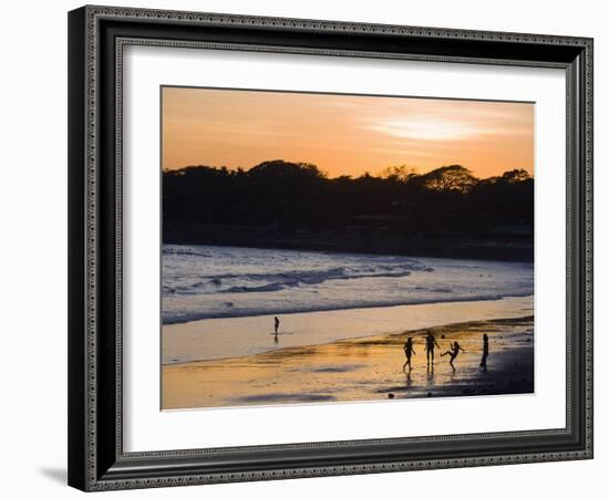
[[461, 164], [533, 175], [534, 104], [163, 87], [163, 168], [283, 159], [329, 177]]

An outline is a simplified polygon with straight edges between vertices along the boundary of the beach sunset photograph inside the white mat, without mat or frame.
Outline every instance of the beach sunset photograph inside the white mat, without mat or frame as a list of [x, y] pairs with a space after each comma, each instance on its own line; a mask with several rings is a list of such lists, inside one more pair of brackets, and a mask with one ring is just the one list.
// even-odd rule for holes
[[162, 409], [535, 393], [534, 102], [159, 98]]

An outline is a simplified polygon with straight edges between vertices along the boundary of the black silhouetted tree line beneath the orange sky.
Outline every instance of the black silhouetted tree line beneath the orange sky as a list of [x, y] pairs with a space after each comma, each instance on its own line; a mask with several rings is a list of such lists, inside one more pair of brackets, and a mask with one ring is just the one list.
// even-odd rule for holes
[[200, 241], [213, 227], [276, 238], [530, 242], [533, 203], [534, 179], [524, 169], [479, 179], [461, 165], [424, 174], [395, 166], [329, 178], [313, 164], [268, 160], [248, 170], [163, 172], [164, 239], [182, 243]]

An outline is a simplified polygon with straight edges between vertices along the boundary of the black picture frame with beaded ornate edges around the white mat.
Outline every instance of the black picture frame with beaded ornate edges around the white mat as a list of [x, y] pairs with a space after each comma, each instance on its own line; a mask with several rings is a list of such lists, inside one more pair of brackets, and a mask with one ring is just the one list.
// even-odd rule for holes
[[[566, 427], [124, 453], [121, 113], [125, 44], [565, 69]], [[71, 486], [104, 490], [592, 457], [591, 39], [83, 7], [69, 14], [69, 94]]]

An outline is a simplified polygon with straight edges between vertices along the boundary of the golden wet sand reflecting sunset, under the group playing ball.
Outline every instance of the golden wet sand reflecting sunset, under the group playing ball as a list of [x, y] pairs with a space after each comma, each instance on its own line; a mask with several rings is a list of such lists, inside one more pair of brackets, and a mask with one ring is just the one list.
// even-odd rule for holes
[[[440, 344], [433, 366], [425, 359], [426, 330]], [[486, 371], [479, 366], [484, 333], [489, 338]], [[415, 354], [412, 370], [404, 372], [409, 336]], [[282, 340], [279, 334], [278, 346]], [[448, 355], [440, 356], [454, 341], [464, 349], [455, 371]], [[533, 317], [279, 347], [162, 369], [164, 409], [533, 393]]]

